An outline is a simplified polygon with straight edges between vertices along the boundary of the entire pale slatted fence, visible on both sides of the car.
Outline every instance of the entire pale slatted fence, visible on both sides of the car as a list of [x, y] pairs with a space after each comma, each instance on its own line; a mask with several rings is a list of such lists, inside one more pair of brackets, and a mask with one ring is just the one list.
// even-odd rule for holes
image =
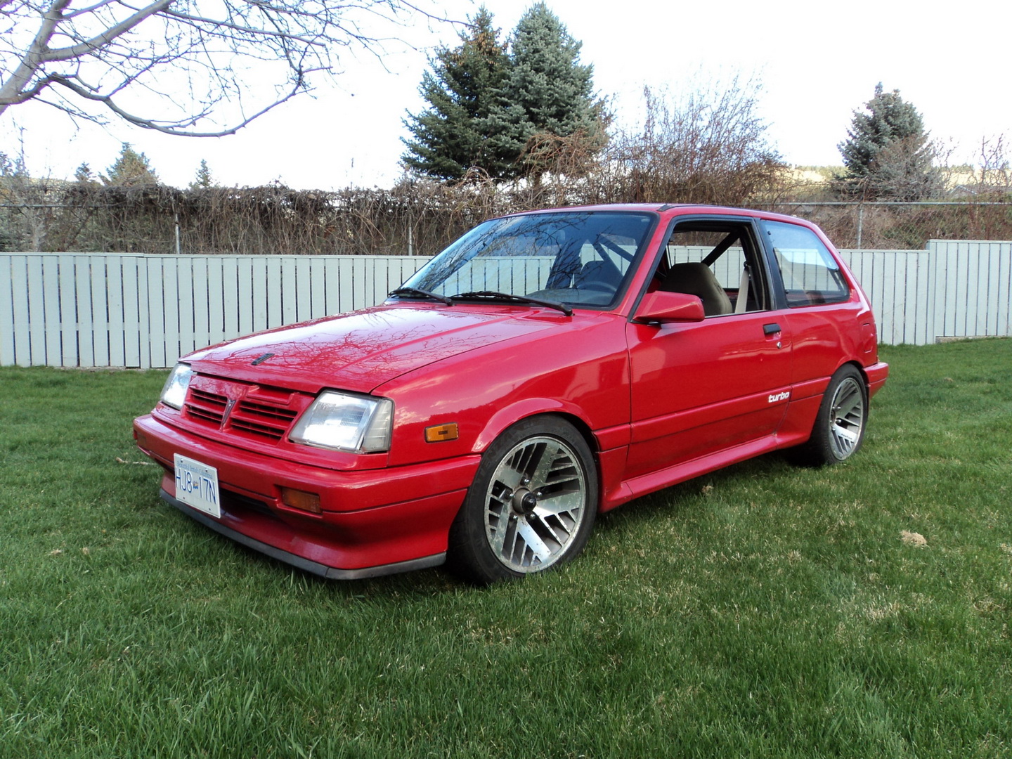
[[[1012, 242], [843, 255], [883, 343], [1012, 335]], [[372, 306], [425, 260], [0, 253], [0, 365], [171, 366], [204, 345]]]

